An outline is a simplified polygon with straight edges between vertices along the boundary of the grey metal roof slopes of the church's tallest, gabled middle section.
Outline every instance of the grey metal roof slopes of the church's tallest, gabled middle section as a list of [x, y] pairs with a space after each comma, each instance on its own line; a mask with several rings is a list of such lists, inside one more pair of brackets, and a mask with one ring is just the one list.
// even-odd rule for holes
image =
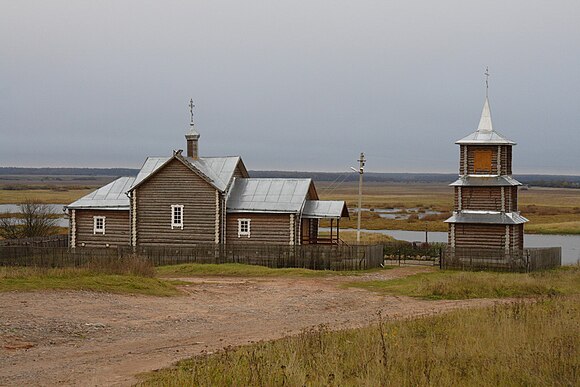
[[[155, 173], [162, 165], [169, 161], [171, 157], [148, 157], [141, 167], [141, 170], [135, 178], [135, 182], [131, 189], [139, 185], [143, 180], [147, 179]], [[199, 159], [192, 159], [190, 157], [182, 157], [187, 163], [199, 170], [205, 175], [211, 183], [220, 191], [225, 191], [228, 184], [232, 180], [234, 171], [238, 162], [239, 156], [232, 157], [200, 157]]]

